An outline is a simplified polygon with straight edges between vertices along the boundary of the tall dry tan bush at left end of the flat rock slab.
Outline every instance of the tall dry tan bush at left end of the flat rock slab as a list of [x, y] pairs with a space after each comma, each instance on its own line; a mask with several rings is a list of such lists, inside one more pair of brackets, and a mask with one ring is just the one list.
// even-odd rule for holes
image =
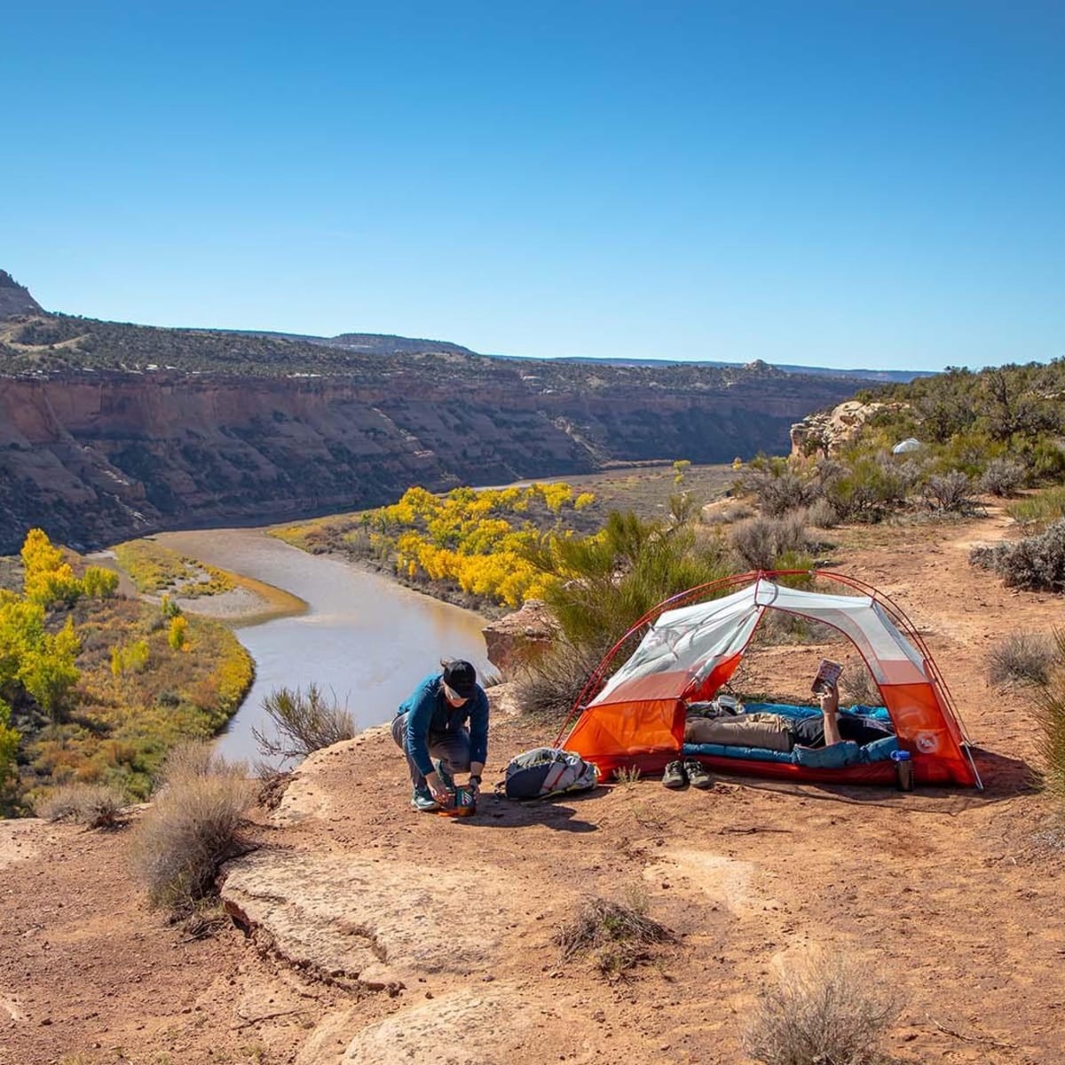
[[222, 864], [246, 850], [243, 830], [256, 785], [243, 766], [194, 746], [167, 759], [164, 776], [165, 787], [136, 826], [131, 861], [151, 905], [184, 917], [213, 894]]

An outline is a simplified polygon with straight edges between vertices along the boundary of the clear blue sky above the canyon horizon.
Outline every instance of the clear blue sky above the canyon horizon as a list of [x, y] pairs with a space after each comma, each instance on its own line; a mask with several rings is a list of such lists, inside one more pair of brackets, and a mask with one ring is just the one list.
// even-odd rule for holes
[[1060, 0], [0, 5], [47, 308], [529, 356], [1065, 355]]

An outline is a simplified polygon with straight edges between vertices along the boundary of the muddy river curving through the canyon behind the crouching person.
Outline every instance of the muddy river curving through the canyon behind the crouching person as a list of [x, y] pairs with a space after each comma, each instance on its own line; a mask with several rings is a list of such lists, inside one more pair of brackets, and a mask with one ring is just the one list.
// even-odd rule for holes
[[262, 701], [274, 688], [306, 688], [313, 682], [335, 693], [357, 726], [366, 728], [388, 721], [441, 657], [466, 658], [478, 672], [491, 668], [484, 618], [388, 577], [309, 555], [255, 528], [166, 532], [157, 539], [307, 604], [302, 613], [234, 625], [256, 660], [256, 681], [218, 738], [218, 753], [226, 758], [259, 759], [251, 730], [272, 733]]

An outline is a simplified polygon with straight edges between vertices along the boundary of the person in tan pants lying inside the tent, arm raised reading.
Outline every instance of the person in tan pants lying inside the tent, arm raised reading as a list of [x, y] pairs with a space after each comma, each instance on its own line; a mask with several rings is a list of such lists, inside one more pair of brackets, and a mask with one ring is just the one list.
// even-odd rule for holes
[[839, 691], [835, 685], [821, 692], [821, 715], [789, 718], [782, 714], [739, 714], [735, 717], [689, 718], [685, 723], [686, 743], [720, 743], [722, 747], [760, 747], [788, 752], [796, 747], [831, 747], [852, 740], [858, 747], [892, 736], [889, 721], [839, 714]]

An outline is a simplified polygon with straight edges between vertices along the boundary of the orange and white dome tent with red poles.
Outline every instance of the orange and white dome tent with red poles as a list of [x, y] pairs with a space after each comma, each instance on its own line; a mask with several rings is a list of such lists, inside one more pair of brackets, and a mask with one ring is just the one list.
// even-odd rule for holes
[[[834, 583], [840, 593], [792, 587], [815, 577]], [[682, 754], [694, 753], [704, 765], [732, 772], [892, 782], [895, 764], [886, 755], [834, 768], [818, 759], [803, 765], [790, 756], [751, 752], [738, 758], [735, 751], [685, 748], [688, 704], [715, 697], [772, 610], [821, 622], [854, 645], [895, 727], [891, 747], [910, 753], [919, 784], [982, 786], [950, 691], [914, 625], [871, 586], [824, 570], [746, 573], [660, 603], [600, 662], [556, 746], [593, 763], [603, 780], [629, 767], [657, 772]], [[641, 634], [636, 650], [623, 659]]]

